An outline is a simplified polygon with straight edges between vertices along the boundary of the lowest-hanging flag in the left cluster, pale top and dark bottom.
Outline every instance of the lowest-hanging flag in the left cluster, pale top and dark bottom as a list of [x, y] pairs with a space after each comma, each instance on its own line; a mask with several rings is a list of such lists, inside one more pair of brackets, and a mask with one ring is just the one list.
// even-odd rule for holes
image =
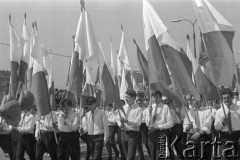
[[[45, 52], [45, 49], [42, 48], [42, 45], [40, 44], [38, 37], [36, 38], [32, 52], [36, 52], [36, 53], [32, 53], [34, 55], [42, 56], [45, 54], [45, 53], [41, 53], [41, 52]], [[50, 112], [50, 101], [49, 101], [47, 81], [45, 78], [45, 70], [43, 68], [43, 60], [42, 60], [43, 57], [41, 56], [34, 56], [31, 90], [35, 98], [38, 115], [44, 116]], [[35, 59], [35, 58], [38, 58], [38, 59]]]

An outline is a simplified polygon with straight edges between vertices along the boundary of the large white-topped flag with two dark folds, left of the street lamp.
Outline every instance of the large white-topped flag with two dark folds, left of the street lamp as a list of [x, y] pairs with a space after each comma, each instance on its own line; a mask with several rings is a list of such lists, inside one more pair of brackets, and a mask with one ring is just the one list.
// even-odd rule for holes
[[192, 93], [194, 97], [200, 99], [183, 62], [184, 59], [188, 60], [186, 55], [184, 57], [181, 47], [167, 32], [167, 27], [146, 0], [143, 1], [143, 25], [150, 87], [159, 89], [169, 98], [181, 99], [168, 87], [171, 84], [169, 69], [175, 86], [182, 94]]

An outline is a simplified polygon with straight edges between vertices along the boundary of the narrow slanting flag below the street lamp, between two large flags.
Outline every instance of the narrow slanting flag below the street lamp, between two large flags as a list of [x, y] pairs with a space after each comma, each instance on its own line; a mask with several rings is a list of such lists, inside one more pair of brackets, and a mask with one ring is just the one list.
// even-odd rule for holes
[[188, 54], [192, 54], [192, 65], [193, 65], [193, 74], [195, 77], [195, 84], [197, 86], [198, 92], [203, 96], [204, 100], [216, 100], [219, 99], [219, 94], [216, 86], [207, 78], [206, 75], [202, 72], [199, 62], [194, 57], [191, 52], [189, 40], [187, 43]]

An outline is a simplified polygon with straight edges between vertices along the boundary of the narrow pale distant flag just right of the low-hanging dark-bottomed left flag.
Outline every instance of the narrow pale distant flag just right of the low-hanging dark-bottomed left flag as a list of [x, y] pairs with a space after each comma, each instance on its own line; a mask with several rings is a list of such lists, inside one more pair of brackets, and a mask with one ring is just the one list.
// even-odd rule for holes
[[54, 76], [53, 76], [53, 66], [52, 66], [52, 55], [49, 54], [43, 58], [44, 68], [48, 73], [48, 94], [50, 100], [51, 110], [56, 110], [55, 103], [55, 93], [54, 93]]

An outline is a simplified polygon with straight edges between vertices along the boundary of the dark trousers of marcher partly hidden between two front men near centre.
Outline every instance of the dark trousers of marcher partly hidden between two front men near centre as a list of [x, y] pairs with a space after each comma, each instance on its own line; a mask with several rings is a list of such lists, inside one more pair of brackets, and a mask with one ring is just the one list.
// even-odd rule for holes
[[112, 149], [114, 150], [115, 155], [119, 155], [119, 151], [115, 144], [115, 134], [117, 132], [117, 129], [117, 126], [109, 126], [109, 139], [106, 145], [109, 159], [112, 159]]

